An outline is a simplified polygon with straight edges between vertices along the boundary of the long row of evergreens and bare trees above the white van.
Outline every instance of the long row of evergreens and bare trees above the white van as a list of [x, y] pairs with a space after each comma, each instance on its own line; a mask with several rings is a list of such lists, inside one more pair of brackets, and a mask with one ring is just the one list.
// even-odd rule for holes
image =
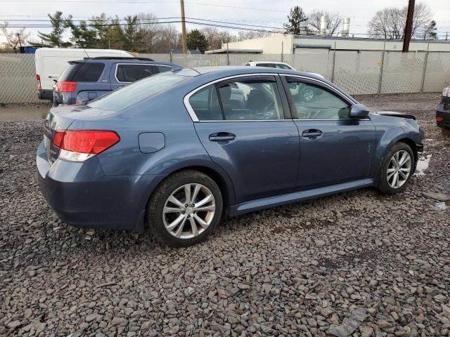
[[[64, 16], [61, 11], [48, 16], [51, 32], [38, 32], [37, 41], [28, 39], [30, 34], [25, 32], [25, 28], [8, 31], [8, 22], [4, 22], [2, 31], [8, 46], [15, 50], [27, 40], [28, 44], [34, 46], [113, 48], [139, 53], [169, 53], [182, 48], [181, 33], [176, 26], [159, 22], [153, 13], [127, 15], [125, 18], [119, 18], [117, 15], [107, 17], [102, 13], [78, 22], [72, 15]], [[68, 39], [64, 39], [65, 32], [70, 32]], [[254, 30], [231, 34], [216, 27], [205, 27], [189, 31], [187, 45], [188, 49], [203, 53], [206, 50], [219, 49], [222, 44], [228, 42], [264, 37], [267, 34]]]

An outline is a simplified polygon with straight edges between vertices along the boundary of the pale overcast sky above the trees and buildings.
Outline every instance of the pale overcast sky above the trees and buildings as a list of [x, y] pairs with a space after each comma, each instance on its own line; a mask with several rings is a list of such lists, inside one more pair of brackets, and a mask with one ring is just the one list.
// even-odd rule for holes
[[[428, 5], [437, 21], [441, 39], [445, 32], [450, 35], [450, 1], [423, 0]], [[185, 0], [187, 18], [222, 20], [226, 22], [245, 23], [269, 27], [282, 27], [288, 12], [293, 6], [302, 6], [309, 13], [314, 10], [326, 10], [340, 13], [351, 18], [350, 34], [367, 32], [367, 22], [375, 11], [387, 6], [406, 6], [407, 0]], [[8, 20], [10, 25], [38, 24], [43, 22], [20, 22], [13, 20], [40, 19], [45, 20], [47, 13], [63, 11], [64, 15], [72, 14], [75, 19], [100, 15], [126, 15], [136, 13], [153, 13], [158, 18], [179, 17], [179, 1], [167, 0], [0, 0], [0, 22]], [[23, 15], [28, 15], [27, 17]], [[45, 22], [44, 22], [45, 23]], [[181, 24], [176, 23], [179, 30]], [[188, 29], [202, 26], [188, 24]], [[32, 38], [37, 37], [37, 28], [28, 28]], [[49, 28], [39, 28], [41, 32], [49, 32]], [[67, 36], [67, 33], [66, 33]], [[3, 38], [2, 38], [3, 41]]]

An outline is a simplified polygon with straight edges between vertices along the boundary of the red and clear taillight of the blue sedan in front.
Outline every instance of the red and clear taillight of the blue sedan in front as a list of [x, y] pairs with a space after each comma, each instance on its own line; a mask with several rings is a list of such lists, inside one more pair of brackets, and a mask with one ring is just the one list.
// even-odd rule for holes
[[53, 145], [60, 148], [59, 159], [85, 161], [109, 149], [119, 140], [119, 135], [114, 131], [56, 131]]

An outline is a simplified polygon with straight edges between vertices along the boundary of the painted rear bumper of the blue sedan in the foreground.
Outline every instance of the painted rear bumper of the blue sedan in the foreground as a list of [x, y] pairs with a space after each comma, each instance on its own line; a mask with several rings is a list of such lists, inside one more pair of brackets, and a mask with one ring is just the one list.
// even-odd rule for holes
[[39, 185], [58, 217], [83, 228], [143, 229], [150, 193], [164, 176], [105, 176], [96, 157], [84, 163], [46, 157], [44, 143], [36, 157]]

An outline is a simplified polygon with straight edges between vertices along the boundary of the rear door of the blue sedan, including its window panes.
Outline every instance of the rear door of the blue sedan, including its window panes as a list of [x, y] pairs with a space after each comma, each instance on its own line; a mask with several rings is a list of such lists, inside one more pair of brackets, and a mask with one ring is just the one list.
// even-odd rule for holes
[[195, 131], [231, 177], [236, 204], [295, 188], [300, 141], [280, 87], [278, 76], [240, 76], [188, 96]]

